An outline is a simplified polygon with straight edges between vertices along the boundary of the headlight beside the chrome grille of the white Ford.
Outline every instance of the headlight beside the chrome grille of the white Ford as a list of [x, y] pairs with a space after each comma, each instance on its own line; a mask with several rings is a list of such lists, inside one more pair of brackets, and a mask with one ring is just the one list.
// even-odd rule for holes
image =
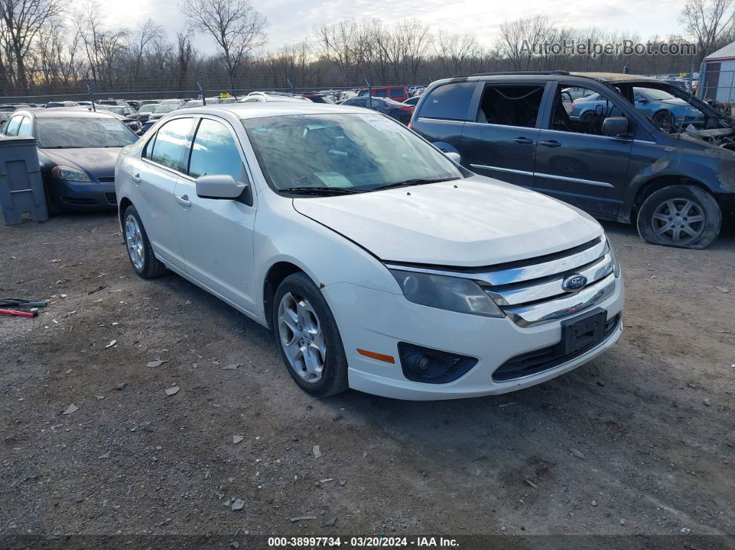
[[389, 270], [406, 299], [413, 303], [464, 314], [505, 316], [475, 281], [400, 269]]

